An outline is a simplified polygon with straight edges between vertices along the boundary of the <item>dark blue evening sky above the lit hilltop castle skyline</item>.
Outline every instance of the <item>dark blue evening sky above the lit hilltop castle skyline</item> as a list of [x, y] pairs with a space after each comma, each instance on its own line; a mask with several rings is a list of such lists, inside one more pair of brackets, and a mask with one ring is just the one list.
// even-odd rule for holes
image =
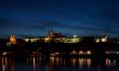
[[64, 34], [119, 37], [118, 0], [0, 0], [0, 37]]

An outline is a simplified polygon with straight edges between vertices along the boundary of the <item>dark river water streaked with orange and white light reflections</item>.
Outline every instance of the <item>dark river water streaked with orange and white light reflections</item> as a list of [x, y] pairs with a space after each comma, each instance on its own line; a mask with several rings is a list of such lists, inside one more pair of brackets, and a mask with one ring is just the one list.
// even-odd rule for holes
[[[19, 59], [21, 60], [21, 59]], [[0, 59], [0, 71], [71, 71], [118, 69], [118, 59], [92, 59], [92, 58], [60, 58], [60, 57], [28, 57], [24, 60], [2, 57]], [[102, 62], [102, 63], [101, 63]], [[116, 68], [117, 67], [117, 68]], [[106, 71], [106, 70], [104, 70]]]

